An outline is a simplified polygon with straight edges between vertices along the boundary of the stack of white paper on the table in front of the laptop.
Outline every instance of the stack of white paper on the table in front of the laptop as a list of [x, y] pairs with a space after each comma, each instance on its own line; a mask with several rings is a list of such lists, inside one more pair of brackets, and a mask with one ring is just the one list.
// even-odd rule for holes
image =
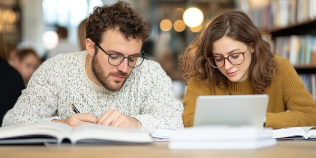
[[199, 126], [176, 131], [170, 149], [256, 149], [273, 146], [272, 129], [257, 127]]

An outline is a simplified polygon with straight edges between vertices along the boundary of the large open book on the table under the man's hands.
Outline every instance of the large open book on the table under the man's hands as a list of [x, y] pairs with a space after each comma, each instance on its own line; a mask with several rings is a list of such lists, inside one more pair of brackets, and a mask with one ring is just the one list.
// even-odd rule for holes
[[0, 144], [149, 144], [148, 133], [97, 124], [71, 128], [58, 122], [35, 123], [0, 128]]

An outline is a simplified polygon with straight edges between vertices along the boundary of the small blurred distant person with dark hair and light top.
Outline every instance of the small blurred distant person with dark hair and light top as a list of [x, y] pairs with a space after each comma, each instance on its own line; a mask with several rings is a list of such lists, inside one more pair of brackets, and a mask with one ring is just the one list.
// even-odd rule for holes
[[79, 51], [80, 48], [76, 44], [72, 44], [68, 41], [68, 31], [65, 27], [56, 26], [56, 33], [58, 35], [58, 44], [54, 49], [47, 52], [46, 59], [55, 57], [60, 53]]

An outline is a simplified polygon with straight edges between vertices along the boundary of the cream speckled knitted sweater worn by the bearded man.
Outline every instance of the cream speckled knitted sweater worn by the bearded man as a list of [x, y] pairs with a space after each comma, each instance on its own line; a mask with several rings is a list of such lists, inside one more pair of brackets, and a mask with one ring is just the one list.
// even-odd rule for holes
[[81, 113], [100, 117], [108, 109], [136, 118], [142, 130], [182, 129], [183, 104], [174, 97], [171, 79], [159, 64], [145, 60], [134, 68], [121, 90], [114, 92], [94, 84], [86, 75], [87, 52], [61, 54], [44, 62], [3, 126], [67, 119], [74, 103]]

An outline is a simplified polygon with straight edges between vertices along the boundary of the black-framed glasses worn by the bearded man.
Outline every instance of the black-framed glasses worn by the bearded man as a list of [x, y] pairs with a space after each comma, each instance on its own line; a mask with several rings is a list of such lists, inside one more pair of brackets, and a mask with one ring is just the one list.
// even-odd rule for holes
[[[94, 42], [94, 41], [93, 41]], [[98, 43], [94, 42], [106, 55], [109, 56], [108, 58], [108, 61], [111, 65], [113, 66], [117, 66], [117, 65], [120, 65], [123, 63], [123, 61], [125, 59], [127, 59], [127, 64], [129, 67], [131, 68], [136, 68], [138, 66], [140, 66], [144, 59], [146, 59], [146, 56], [145, 56], [145, 52], [143, 51], [143, 49], [140, 49], [141, 50], [141, 54], [142, 56], [131, 56], [131, 57], [124, 57], [123, 55], [121, 54], [117, 54], [117, 53], [114, 53], [114, 54], [111, 54], [111, 53], [108, 53], [106, 50], [104, 50]]]

